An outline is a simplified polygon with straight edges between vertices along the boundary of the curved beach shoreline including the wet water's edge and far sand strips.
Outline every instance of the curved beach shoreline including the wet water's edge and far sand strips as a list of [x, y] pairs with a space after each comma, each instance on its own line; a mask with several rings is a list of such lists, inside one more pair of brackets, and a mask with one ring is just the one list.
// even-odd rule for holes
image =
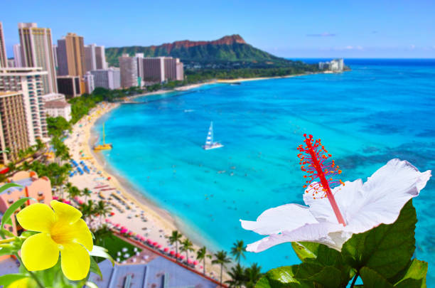
[[[200, 85], [191, 85], [189, 89], [185, 90], [190, 90], [208, 84], [213, 84], [213, 82], [205, 82], [201, 83]], [[134, 95], [129, 97], [129, 99], [159, 95], [168, 92], [177, 92], [177, 90], [159, 90], [156, 92], [146, 93], [144, 95]], [[174, 249], [174, 247], [168, 242], [168, 236], [171, 235], [173, 230], [178, 230], [181, 233], [186, 232], [186, 236], [188, 237], [191, 236], [190, 234], [198, 233], [195, 233], [195, 230], [190, 230], [187, 223], [183, 223], [181, 219], [171, 215], [168, 210], [161, 208], [157, 203], [154, 203], [152, 199], [146, 197], [143, 193], [141, 193], [139, 188], [134, 186], [134, 183], [128, 181], [119, 172], [117, 172], [114, 167], [107, 164], [107, 160], [104, 159], [102, 154], [100, 154], [98, 151], [93, 151], [92, 149], [92, 147], [98, 141], [97, 134], [95, 133], [95, 124], [97, 124], [102, 117], [109, 117], [109, 114], [113, 110], [117, 109], [120, 105], [120, 103], [99, 103], [97, 107], [90, 111], [90, 114], [82, 117], [79, 122], [73, 125], [73, 132], [67, 139], [65, 139], [65, 144], [70, 149], [70, 154], [72, 156], [71, 158], [75, 159], [77, 162], [85, 161], [87, 166], [90, 167], [91, 173], [75, 175], [70, 177], [69, 180], [73, 186], [77, 186], [77, 188], [80, 190], [89, 188], [92, 191], [90, 198], [95, 201], [102, 200], [101, 196], [105, 197], [105, 199], [110, 199], [114, 193], [118, 193], [118, 196], [121, 196], [125, 203], [131, 206], [131, 210], [125, 210], [124, 213], [121, 213], [116, 209], [117, 206], [119, 207], [119, 204], [112, 206], [112, 203], [107, 201], [112, 206], [112, 211], [115, 213], [114, 215], [108, 217], [108, 220], [110, 221], [109, 223], [120, 223], [121, 225], [129, 228], [129, 230], [134, 232], [136, 235], [145, 235], [146, 238], [159, 241], [161, 244], [163, 244], [163, 247]], [[113, 187], [113, 189], [110, 189], [110, 191], [97, 189], [97, 187], [100, 186], [108, 186], [109, 188]], [[83, 199], [83, 197], [80, 197], [81, 201], [83, 201]], [[141, 211], [141, 216], [142, 211], [144, 213], [143, 215], [146, 215], [146, 223], [142, 223], [139, 218], [137, 218], [139, 211]], [[132, 215], [135, 213], [136, 215]], [[188, 231], [190, 231], [190, 233], [187, 233]], [[205, 244], [207, 244], [205, 239], [200, 238], [202, 237], [200, 237], [199, 234], [198, 238], [190, 237], [195, 250], [198, 250], [200, 247], [203, 247]], [[207, 247], [210, 252], [215, 252], [212, 250], [213, 247], [210, 245]], [[190, 253], [189, 258], [190, 260], [195, 260], [195, 253]], [[202, 268], [200, 268], [198, 265], [197, 270], [202, 271]], [[211, 260], [207, 260], [206, 274], [209, 277], [218, 277], [219, 271], [220, 270], [218, 266], [212, 265]]]

